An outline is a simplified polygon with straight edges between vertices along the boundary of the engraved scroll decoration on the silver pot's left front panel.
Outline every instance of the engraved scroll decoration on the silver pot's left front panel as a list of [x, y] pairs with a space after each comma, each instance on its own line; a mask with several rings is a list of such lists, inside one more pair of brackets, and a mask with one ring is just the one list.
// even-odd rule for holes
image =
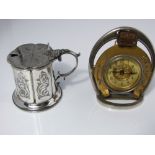
[[17, 74], [16, 85], [19, 96], [30, 99], [30, 91], [27, 84], [28, 80], [22, 72]]

